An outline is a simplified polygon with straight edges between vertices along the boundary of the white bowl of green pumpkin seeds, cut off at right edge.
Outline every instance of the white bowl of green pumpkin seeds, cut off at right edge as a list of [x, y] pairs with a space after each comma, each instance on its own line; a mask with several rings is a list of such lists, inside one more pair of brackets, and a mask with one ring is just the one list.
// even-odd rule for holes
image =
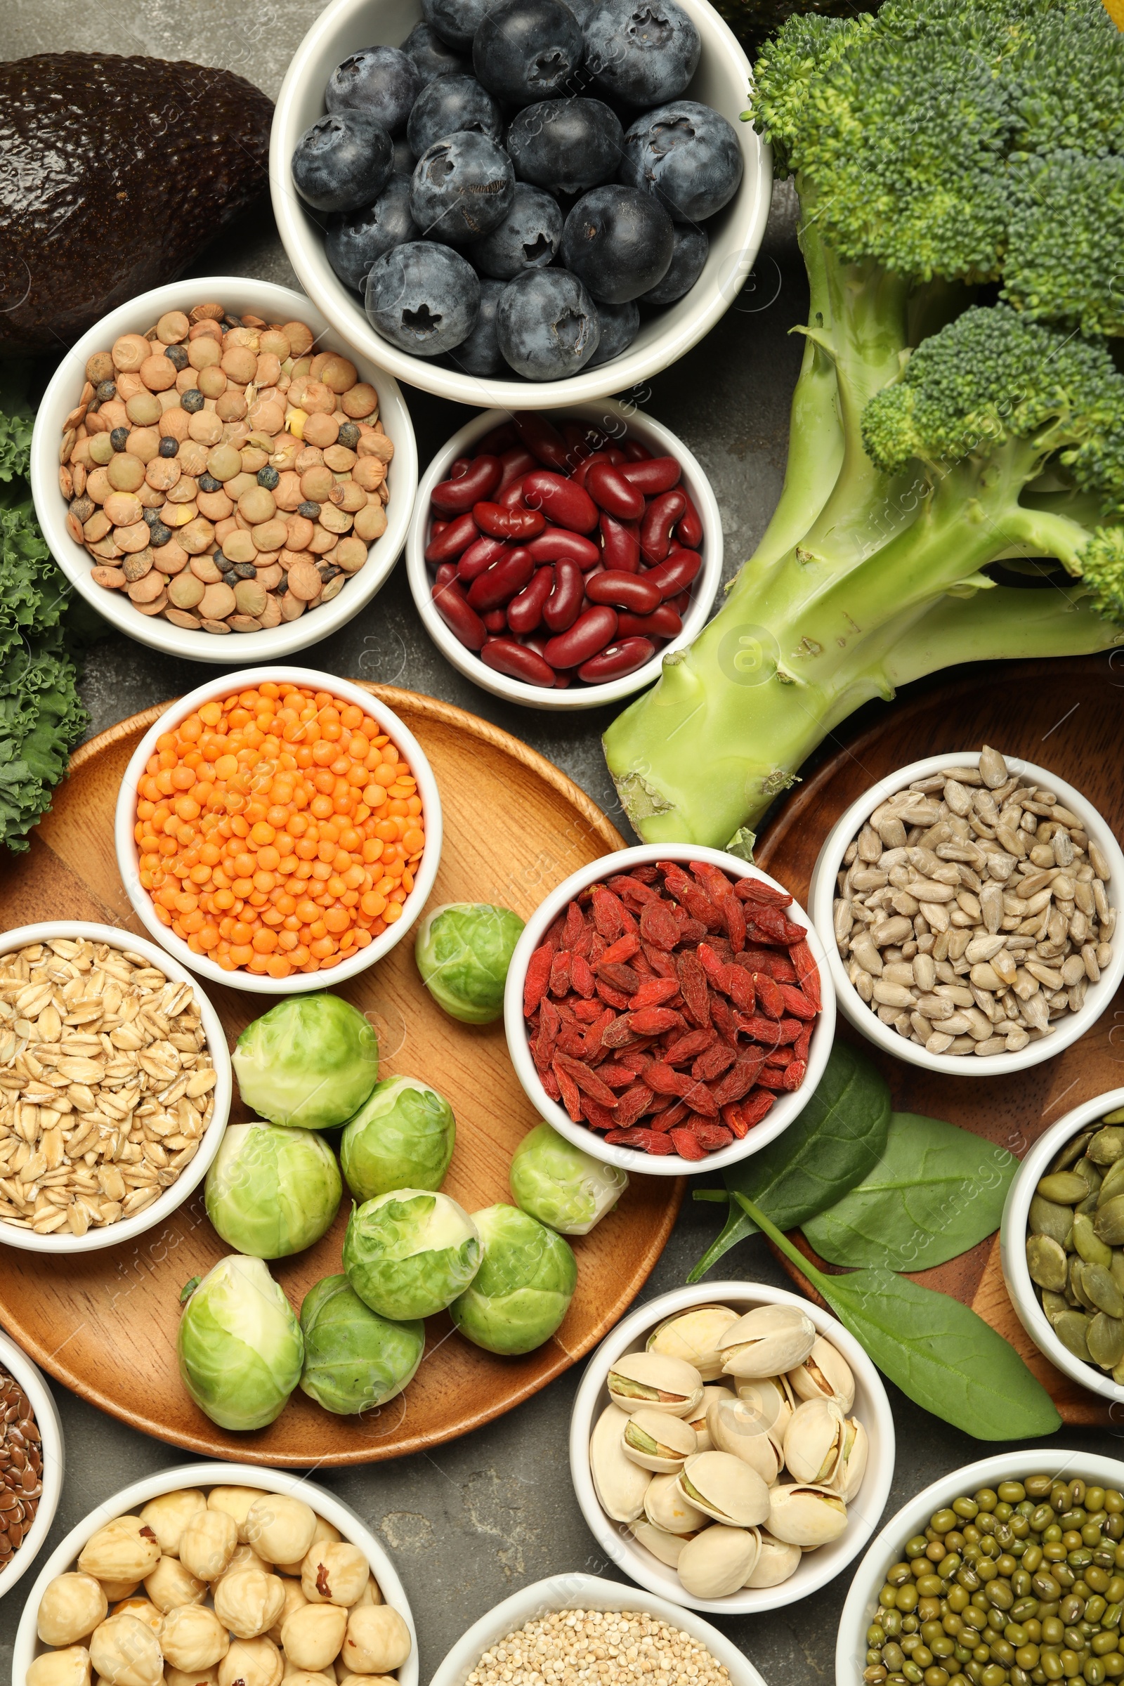
[[1124, 1089], [1075, 1106], [1033, 1143], [1008, 1192], [999, 1253], [1038, 1350], [1124, 1403]]

